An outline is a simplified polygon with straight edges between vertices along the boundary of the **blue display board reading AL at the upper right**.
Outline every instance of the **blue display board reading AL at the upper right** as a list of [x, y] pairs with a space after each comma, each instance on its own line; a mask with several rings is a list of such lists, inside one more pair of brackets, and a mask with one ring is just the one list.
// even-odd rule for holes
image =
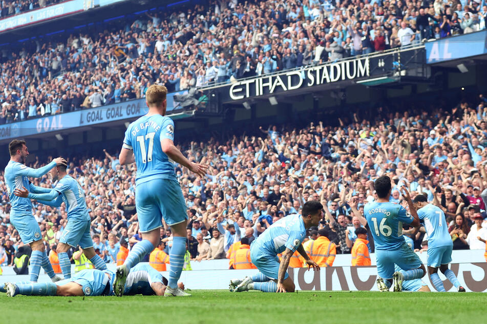
[[487, 30], [427, 42], [427, 63], [451, 61], [487, 53]]

